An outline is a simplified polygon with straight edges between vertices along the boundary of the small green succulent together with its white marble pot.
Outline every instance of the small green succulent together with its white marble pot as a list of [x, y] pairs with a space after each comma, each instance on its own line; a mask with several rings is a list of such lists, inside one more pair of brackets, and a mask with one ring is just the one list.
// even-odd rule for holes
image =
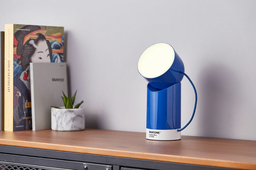
[[64, 107], [51, 106], [52, 130], [84, 130], [84, 109], [79, 107], [83, 103], [83, 101], [81, 101], [73, 107], [76, 98], [76, 93], [71, 98], [69, 97], [69, 95], [67, 97], [63, 91], [62, 93]]

